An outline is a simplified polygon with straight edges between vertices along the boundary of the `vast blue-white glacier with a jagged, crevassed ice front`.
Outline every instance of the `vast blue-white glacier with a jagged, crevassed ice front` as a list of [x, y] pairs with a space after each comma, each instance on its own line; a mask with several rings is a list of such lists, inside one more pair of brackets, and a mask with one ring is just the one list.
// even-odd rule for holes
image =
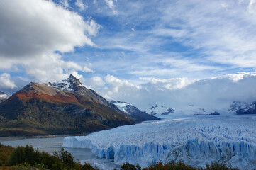
[[90, 148], [115, 164], [146, 167], [169, 160], [205, 166], [218, 162], [256, 168], [256, 116], [162, 116], [162, 120], [126, 125], [86, 136], [65, 137], [63, 147]]

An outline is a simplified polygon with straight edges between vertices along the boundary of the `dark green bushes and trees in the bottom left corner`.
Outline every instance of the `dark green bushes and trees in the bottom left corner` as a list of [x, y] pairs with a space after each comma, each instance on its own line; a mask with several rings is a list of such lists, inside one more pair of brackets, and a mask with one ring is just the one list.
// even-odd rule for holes
[[30, 167], [37, 169], [51, 170], [94, 170], [90, 164], [74, 162], [72, 154], [65, 149], [54, 152], [53, 155], [47, 152], [34, 150], [32, 146], [13, 148], [0, 143], [0, 166], [11, 166], [11, 169], [23, 170]]

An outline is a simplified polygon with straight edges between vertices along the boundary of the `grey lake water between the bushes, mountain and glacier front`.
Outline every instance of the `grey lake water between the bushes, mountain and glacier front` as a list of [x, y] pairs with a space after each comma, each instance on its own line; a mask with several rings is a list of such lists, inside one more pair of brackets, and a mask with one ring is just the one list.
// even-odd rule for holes
[[[39, 151], [45, 151], [50, 154], [57, 151], [59, 152], [62, 147], [64, 137], [52, 137], [52, 138], [36, 138], [36, 139], [22, 139], [22, 140], [6, 140], [1, 138], [0, 142], [4, 145], [11, 145], [12, 147], [32, 145], [34, 149]], [[100, 159], [95, 154], [91, 153], [91, 149], [81, 148], [68, 148], [65, 147], [67, 152], [70, 152], [75, 161], [79, 161], [82, 164], [84, 162], [90, 163], [93, 166], [97, 166], [99, 169], [114, 169], [120, 166], [113, 163], [113, 159]]]

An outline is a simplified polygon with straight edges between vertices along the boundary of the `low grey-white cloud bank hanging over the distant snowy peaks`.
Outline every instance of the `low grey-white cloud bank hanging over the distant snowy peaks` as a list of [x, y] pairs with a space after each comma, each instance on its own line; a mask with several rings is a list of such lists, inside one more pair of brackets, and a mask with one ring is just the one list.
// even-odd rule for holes
[[[189, 81], [186, 77], [177, 79], [140, 78], [140, 85], [107, 75], [90, 79], [91, 88], [102, 96], [119, 101], [133, 103], [142, 110], [155, 104], [172, 108], [189, 105], [201, 108], [228, 108], [233, 101], [251, 103], [256, 101], [256, 73], [241, 72], [227, 74], [198, 81]], [[87, 84], [89, 81], [84, 81]], [[97, 85], [99, 82], [100, 85]], [[104, 86], [103, 86], [104, 85]]]

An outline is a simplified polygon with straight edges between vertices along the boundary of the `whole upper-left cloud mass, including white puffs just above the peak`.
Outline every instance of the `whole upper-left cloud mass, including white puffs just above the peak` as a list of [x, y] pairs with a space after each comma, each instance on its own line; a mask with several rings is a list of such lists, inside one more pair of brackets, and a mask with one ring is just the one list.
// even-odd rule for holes
[[[67, 1], [61, 1], [63, 6]], [[13, 5], [15, 4], [15, 5]], [[74, 47], [96, 45], [88, 36], [96, 36], [101, 26], [93, 18], [82, 16], [45, 0], [0, 1], [0, 69], [24, 68], [35, 81], [57, 81], [70, 72], [94, 72], [86, 64], [62, 60]]]

